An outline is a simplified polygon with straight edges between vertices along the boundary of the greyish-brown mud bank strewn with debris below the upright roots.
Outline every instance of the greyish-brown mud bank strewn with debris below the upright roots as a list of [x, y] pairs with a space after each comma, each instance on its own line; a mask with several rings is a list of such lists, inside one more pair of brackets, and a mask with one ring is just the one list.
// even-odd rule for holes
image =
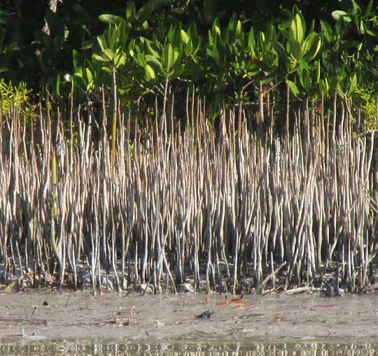
[[[378, 335], [376, 293], [333, 298], [318, 293], [232, 298], [202, 293], [142, 297], [123, 292], [102, 296], [90, 292], [1, 292], [0, 338], [367, 340]], [[21, 327], [25, 329], [23, 337]]]

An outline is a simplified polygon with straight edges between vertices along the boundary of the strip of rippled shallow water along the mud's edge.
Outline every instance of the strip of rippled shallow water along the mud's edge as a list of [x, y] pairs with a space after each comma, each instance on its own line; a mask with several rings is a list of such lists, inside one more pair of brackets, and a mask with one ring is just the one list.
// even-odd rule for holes
[[0, 341], [0, 355], [375, 356], [363, 341]]

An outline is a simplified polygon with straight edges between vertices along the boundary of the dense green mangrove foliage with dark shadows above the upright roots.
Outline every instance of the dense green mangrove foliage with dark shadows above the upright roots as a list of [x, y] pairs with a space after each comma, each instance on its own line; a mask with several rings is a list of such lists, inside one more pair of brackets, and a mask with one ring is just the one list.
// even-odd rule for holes
[[273, 103], [284, 111], [287, 85], [300, 100], [355, 99], [372, 129], [377, 34], [374, 0], [8, 0], [0, 71], [36, 100], [48, 93], [62, 104], [72, 93], [92, 106], [103, 87], [109, 104], [118, 95], [148, 112], [156, 97], [166, 106], [195, 88], [213, 117], [246, 104], [257, 122]]

